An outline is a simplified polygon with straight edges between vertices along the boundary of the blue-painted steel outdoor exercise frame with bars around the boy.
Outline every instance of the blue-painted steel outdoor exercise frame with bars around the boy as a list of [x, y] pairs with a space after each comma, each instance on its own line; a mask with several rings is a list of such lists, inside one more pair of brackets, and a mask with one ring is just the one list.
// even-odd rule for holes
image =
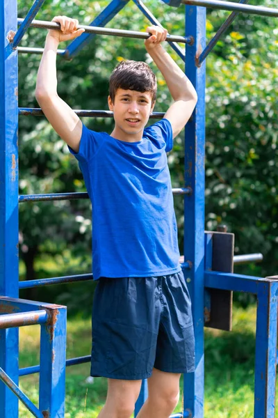
[[[35, 0], [24, 20], [17, 19], [17, 0], [0, 4], [0, 417], [18, 417], [18, 399], [39, 418], [63, 418], [65, 415], [65, 366], [90, 362], [90, 355], [75, 359], [65, 357], [66, 308], [19, 299], [19, 288], [91, 280], [92, 274], [21, 281], [18, 277], [18, 205], [30, 201], [88, 199], [86, 193], [38, 194], [18, 196], [17, 125], [19, 116], [42, 116], [41, 109], [18, 108], [18, 53], [42, 54], [42, 48], [19, 47], [30, 26], [58, 29], [54, 22], [35, 21], [44, 0]], [[141, 0], [133, 0], [152, 24], [156, 17]], [[58, 51], [72, 59], [96, 34], [129, 36], [145, 39], [149, 34], [104, 29], [108, 22], [129, 3], [113, 0], [93, 20], [86, 32], [67, 49]], [[184, 256], [181, 266], [193, 300], [196, 339], [196, 371], [184, 376], [184, 408], [174, 417], [204, 417], [204, 325], [231, 330], [232, 291], [254, 293], [258, 300], [256, 318], [256, 357], [254, 417], [275, 418], [275, 373], [277, 366], [277, 295], [278, 276], [252, 277], [234, 274], [236, 263], [259, 261], [261, 254], [234, 256], [234, 235], [225, 229], [204, 231], [204, 125], [205, 65], [204, 59], [221, 34], [240, 12], [277, 17], [278, 10], [249, 6], [243, 0], [232, 3], [218, 0], [165, 0], [170, 6], [186, 4], [185, 37], [168, 36], [167, 41], [186, 63], [186, 75], [195, 86], [198, 103], [186, 125], [185, 183], [172, 189], [184, 194]], [[206, 47], [206, 6], [232, 10], [226, 22]], [[166, 7], [166, 6], [165, 6]], [[161, 26], [161, 25], [160, 25]], [[186, 54], [174, 41], [186, 45]], [[112, 117], [109, 111], [76, 110], [79, 116]], [[152, 118], [163, 114], [154, 113]], [[24, 369], [18, 365], [18, 327], [40, 324], [40, 364]], [[38, 407], [18, 387], [19, 376], [40, 373]], [[136, 403], [136, 415], [147, 397], [147, 382]]]

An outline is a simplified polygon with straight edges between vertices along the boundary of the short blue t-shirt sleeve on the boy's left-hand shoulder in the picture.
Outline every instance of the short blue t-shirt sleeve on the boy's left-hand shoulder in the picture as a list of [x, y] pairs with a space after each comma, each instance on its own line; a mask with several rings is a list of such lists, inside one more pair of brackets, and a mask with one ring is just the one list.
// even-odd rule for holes
[[83, 125], [79, 152], [76, 153], [70, 146], [68, 146], [68, 148], [70, 153], [72, 153], [79, 162], [88, 162], [97, 153], [99, 146], [101, 146], [101, 142], [99, 132], [92, 131]]

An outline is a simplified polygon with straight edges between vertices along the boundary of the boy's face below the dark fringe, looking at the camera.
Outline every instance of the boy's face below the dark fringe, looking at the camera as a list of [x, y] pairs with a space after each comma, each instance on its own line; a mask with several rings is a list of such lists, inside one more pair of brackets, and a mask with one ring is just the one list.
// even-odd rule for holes
[[114, 113], [115, 129], [112, 136], [122, 141], [136, 142], [142, 139], [149, 115], [154, 109], [152, 94], [118, 88], [114, 103], [108, 97], [109, 109]]

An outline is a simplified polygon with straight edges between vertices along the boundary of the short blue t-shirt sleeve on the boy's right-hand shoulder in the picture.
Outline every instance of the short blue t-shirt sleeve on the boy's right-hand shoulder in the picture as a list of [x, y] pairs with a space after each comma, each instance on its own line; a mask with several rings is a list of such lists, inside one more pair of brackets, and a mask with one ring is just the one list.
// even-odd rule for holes
[[145, 128], [144, 136], [148, 137], [153, 143], [156, 143], [159, 148], [163, 148], [164, 146], [166, 153], [173, 148], [172, 125], [165, 118]]

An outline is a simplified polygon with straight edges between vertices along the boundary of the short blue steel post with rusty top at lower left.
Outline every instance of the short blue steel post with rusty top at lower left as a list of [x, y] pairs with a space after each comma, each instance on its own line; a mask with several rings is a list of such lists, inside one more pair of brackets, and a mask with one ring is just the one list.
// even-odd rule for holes
[[45, 417], [63, 418], [67, 309], [57, 305], [45, 309], [49, 320], [40, 332], [40, 410]]

